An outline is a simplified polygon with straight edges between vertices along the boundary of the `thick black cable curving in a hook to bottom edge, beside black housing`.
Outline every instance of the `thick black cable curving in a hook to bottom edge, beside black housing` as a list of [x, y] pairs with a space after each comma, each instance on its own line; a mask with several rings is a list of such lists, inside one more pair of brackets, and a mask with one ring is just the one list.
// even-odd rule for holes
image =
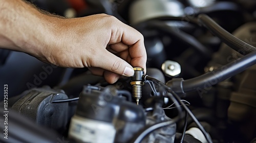
[[178, 104], [177, 100], [173, 97], [172, 94], [170, 93], [167, 93], [166, 96], [168, 98], [170, 98], [170, 100], [172, 100], [175, 105], [177, 106], [177, 110], [178, 110], [178, 116], [173, 118], [172, 120], [169, 120], [169, 121], [165, 121], [165, 122], [161, 122], [161, 123], [157, 123], [155, 125], [152, 125], [152, 126], [149, 126], [149, 127], [146, 127], [141, 133], [139, 133], [138, 135], [134, 136], [134, 138], [132, 139], [131, 142], [134, 142], [134, 143], [139, 143], [143, 140], [144, 137], [146, 137], [146, 135], [148, 135], [149, 133], [159, 129], [159, 128], [162, 128], [162, 127], [166, 127], [166, 126], [169, 126], [169, 125], [172, 125], [172, 124], [175, 124], [176, 122], [178, 122], [180, 120], [180, 118], [183, 117], [183, 114], [182, 113], [182, 109], [181, 109], [181, 106]]

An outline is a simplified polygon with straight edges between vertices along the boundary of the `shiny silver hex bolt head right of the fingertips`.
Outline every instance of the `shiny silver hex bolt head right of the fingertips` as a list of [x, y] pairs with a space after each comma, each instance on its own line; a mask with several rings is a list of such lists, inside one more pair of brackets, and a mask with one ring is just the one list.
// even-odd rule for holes
[[170, 60], [167, 60], [162, 64], [162, 70], [163, 73], [169, 77], [175, 77], [181, 73], [180, 64]]

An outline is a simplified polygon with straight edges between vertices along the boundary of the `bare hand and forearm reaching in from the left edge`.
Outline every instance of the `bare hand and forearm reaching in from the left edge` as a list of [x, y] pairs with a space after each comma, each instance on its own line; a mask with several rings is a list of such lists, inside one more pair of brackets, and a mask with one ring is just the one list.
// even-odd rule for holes
[[62, 67], [89, 67], [109, 83], [146, 63], [143, 36], [113, 16], [66, 19], [16, 0], [1, 1], [0, 47]]

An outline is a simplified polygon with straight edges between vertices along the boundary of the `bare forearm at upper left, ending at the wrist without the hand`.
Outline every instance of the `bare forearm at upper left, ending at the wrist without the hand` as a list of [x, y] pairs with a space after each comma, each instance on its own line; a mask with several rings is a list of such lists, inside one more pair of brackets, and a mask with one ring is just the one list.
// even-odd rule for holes
[[0, 47], [42, 56], [41, 48], [53, 41], [55, 19], [21, 0], [0, 0]]

